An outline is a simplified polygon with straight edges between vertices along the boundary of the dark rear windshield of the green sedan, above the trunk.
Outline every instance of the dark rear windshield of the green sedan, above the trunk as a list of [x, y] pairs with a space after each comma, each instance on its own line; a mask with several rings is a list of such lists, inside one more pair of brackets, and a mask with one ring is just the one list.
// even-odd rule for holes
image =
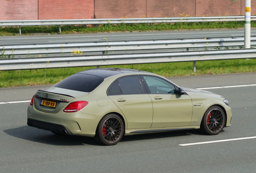
[[98, 76], [77, 73], [60, 81], [54, 87], [89, 93], [97, 88], [103, 80]]

